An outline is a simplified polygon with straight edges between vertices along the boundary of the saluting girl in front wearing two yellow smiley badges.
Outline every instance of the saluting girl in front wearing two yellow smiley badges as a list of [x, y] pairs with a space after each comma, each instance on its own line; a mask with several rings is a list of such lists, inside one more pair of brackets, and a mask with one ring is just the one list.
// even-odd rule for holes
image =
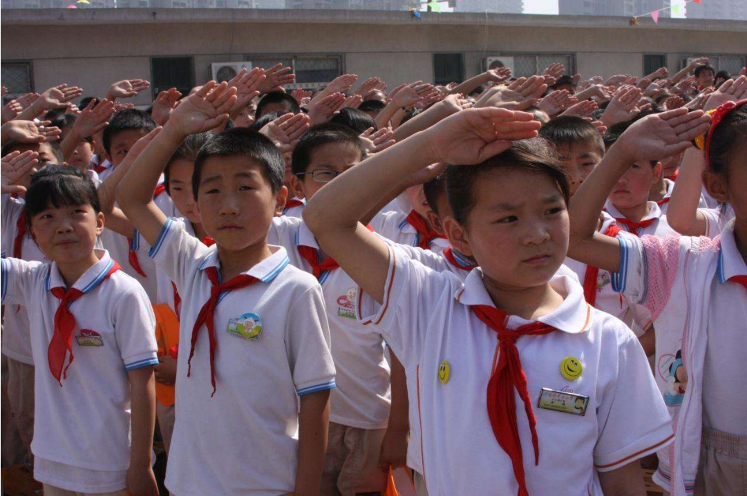
[[[672, 438], [633, 334], [589, 307], [574, 279], [555, 276], [568, 242], [565, 175], [552, 158], [533, 155], [533, 143], [513, 150], [508, 141], [536, 136], [539, 125], [524, 112], [459, 111], [353, 167], [304, 211], [320, 244], [359, 283], [359, 319], [381, 330], [405, 368], [418, 367], [432, 496], [544, 495], [559, 487], [642, 494], [636, 459]], [[480, 266], [464, 283], [357, 223], [397, 176], [438, 162], [480, 164], [447, 169], [454, 217], [444, 227]], [[333, 208], [340, 203], [349, 207]], [[508, 329], [522, 336], [512, 339]], [[524, 374], [526, 382], [518, 379]], [[586, 415], [568, 413], [570, 390], [588, 401]]]

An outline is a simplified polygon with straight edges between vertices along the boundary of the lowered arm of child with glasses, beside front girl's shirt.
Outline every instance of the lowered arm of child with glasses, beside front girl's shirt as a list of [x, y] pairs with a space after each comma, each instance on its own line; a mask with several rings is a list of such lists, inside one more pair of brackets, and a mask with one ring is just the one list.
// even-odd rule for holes
[[391, 358], [391, 409], [389, 423], [381, 445], [379, 468], [404, 467], [407, 463], [407, 444], [409, 430], [409, 398], [407, 397], [407, 379], [405, 368], [389, 348]]

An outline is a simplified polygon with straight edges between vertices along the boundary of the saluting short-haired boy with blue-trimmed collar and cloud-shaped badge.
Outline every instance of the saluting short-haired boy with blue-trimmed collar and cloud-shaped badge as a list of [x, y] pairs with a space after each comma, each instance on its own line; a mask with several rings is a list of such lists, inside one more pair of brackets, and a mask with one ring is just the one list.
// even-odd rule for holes
[[185, 137], [224, 123], [234, 103], [226, 83], [190, 95], [117, 189], [182, 298], [166, 485], [177, 496], [316, 495], [335, 369], [320, 286], [267, 245], [287, 194], [279, 152], [242, 128], [202, 146], [192, 188], [211, 247], [149, 193]]

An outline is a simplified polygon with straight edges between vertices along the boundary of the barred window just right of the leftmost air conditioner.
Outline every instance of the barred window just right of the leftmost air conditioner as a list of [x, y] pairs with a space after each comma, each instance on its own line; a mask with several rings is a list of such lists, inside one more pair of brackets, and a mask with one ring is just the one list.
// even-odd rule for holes
[[317, 89], [325, 87], [332, 79], [342, 74], [341, 55], [277, 55], [276, 57], [247, 56], [252, 66], [270, 69], [276, 63], [293, 67], [296, 75], [294, 87]]

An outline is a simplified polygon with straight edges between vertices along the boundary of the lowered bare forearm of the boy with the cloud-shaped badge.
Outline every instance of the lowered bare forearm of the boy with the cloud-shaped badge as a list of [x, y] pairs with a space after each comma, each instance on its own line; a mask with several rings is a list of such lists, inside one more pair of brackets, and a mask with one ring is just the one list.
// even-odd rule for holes
[[329, 389], [301, 397], [294, 496], [319, 495], [329, 430]]

